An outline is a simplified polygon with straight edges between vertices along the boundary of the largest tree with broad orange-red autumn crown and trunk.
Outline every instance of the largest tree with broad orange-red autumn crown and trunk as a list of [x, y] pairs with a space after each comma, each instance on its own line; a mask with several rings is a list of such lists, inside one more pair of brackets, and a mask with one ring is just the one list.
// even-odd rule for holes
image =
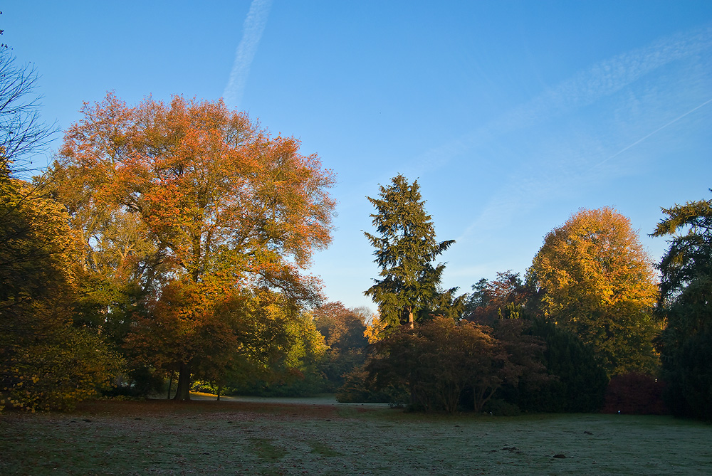
[[[51, 171], [56, 196], [83, 238], [85, 268], [145, 291], [145, 339], [170, 316], [192, 322], [200, 342], [190, 349], [179, 351], [179, 332], [154, 341], [172, 347], [177, 398], [189, 398], [193, 370], [229, 341], [226, 296], [263, 289], [295, 306], [318, 299], [318, 282], [300, 270], [330, 242], [333, 174], [296, 139], [273, 137], [222, 101], [149, 97], [129, 107], [109, 93], [82, 113]], [[200, 299], [211, 302], [197, 305], [205, 286]]]

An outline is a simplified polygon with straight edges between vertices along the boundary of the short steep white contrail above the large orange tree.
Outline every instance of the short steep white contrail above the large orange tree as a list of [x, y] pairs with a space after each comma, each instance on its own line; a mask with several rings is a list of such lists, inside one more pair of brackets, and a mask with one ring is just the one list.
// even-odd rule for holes
[[235, 63], [233, 63], [230, 79], [225, 86], [223, 99], [228, 107], [239, 109], [242, 93], [245, 90], [250, 65], [257, 52], [257, 46], [262, 38], [262, 32], [267, 24], [272, 0], [252, 0], [250, 11], [242, 24], [242, 39], [237, 46]]

